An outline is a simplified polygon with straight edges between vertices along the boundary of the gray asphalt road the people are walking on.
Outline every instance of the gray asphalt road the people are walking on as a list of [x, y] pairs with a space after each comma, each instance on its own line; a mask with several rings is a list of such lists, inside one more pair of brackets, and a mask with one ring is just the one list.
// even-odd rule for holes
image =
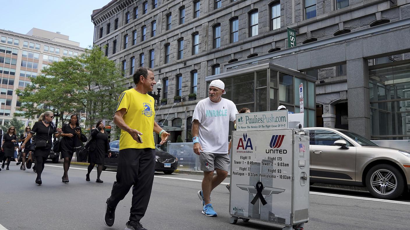
[[[116, 209], [116, 221], [109, 228], [103, 223], [105, 200], [115, 180], [115, 171], [104, 171], [104, 183], [85, 180], [86, 167], [73, 165], [70, 183], [61, 182], [62, 164], [46, 164], [43, 185], [34, 183], [31, 169], [20, 170], [11, 163], [0, 172], [0, 224], [8, 230], [123, 230], [128, 221], [131, 192]], [[216, 187], [212, 203], [218, 217], [201, 214], [196, 192], [202, 176], [155, 174], [153, 192], [146, 216], [141, 220], [149, 230], [227, 229], [279, 230], [279, 225], [261, 221], [229, 223], [229, 193], [225, 185]], [[228, 183], [228, 180], [225, 180]], [[386, 230], [409, 229], [410, 198], [385, 201], [368, 192], [311, 187], [310, 221], [305, 230]], [[0, 230], [2, 229], [0, 225]]]

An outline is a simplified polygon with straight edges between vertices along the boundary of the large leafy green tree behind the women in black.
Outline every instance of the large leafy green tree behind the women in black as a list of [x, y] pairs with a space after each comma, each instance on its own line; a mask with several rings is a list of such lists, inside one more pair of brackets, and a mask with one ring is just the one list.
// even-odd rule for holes
[[98, 46], [79, 56], [63, 57], [41, 72], [31, 77], [32, 84], [24, 90], [16, 90], [21, 116], [32, 119], [52, 110], [64, 124], [71, 114], [77, 113], [80, 119], [85, 117], [90, 129], [98, 119], [112, 120], [118, 97], [129, 81], [119, 65], [108, 60]]

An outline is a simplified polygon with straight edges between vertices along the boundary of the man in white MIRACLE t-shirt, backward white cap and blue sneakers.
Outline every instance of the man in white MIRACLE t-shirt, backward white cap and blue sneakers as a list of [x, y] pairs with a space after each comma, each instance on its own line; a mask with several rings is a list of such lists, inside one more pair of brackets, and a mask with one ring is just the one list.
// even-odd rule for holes
[[202, 214], [206, 216], [217, 215], [210, 202], [211, 191], [228, 176], [229, 121], [235, 122], [238, 113], [232, 101], [222, 98], [226, 93], [224, 89], [225, 84], [221, 80], [212, 81], [209, 97], [198, 102], [192, 116], [194, 152], [199, 155], [201, 170], [204, 171], [198, 196], [203, 206]]

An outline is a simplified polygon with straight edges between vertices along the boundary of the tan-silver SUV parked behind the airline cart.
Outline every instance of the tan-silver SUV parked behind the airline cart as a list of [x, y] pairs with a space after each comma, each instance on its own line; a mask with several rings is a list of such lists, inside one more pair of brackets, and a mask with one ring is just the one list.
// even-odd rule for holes
[[410, 189], [410, 151], [379, 147], [343, 129], [305, 128], [310, 136], [310, 183], [365, 186], [383, 199]]

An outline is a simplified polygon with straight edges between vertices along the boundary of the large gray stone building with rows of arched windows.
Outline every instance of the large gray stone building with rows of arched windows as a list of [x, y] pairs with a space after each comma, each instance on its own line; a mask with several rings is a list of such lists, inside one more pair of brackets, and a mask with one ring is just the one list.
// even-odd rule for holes
[[[266, 103], [262, 108], [276, 110], [269, 101], [278, 100], [297, 113], [296, 78], [285, 80], [279, 73], [278, 88], [258, 98], [257, 74], [228, 76], [268, 62], [316, 79], [315, 87], [305, 86], [316, 93], [315, 103], [305, 104], [305, 124], [396, 140], [410, 139], [409, 3], [113, 0], [91, 19], [94, 43], [106, 45], [106, 55], [127, 76], [140, 65], [157, 70], [167, 101], [156, 108], [156, 121], [168, 126], [172, 141], [177, 135], [190, 141], [193, 110], [207, 97], [212, 79], [225, 81], [227, 97], [238, 108], [257, 111]], [[287, 27], [296, 30], [295, 47], [288, 48]], [[191, 93], [196, 100], [189, 100]], [[174, 96], [182, 97], [175, 106]]]

